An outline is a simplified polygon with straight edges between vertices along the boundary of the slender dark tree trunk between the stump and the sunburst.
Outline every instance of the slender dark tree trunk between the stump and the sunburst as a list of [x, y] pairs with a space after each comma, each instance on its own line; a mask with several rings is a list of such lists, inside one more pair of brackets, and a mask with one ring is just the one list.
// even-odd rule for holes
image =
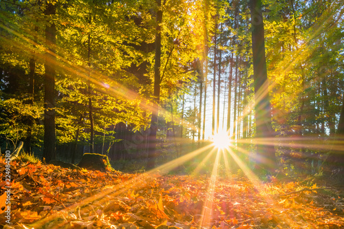
[[149, 133], [149, 150], [147, 169], [155, 167], [156, 155], [156, 132], [158, 130], [158, 115], [160, 103], [160, 66], [161, 66], [161, 27], [162, 23], [162, 10], [161, 0], [156, 0], [156, 28], [155, 28], [155, 63], [154, 63], [154, 94], [153, 94], [153, 108], [151, 114], [151, 129]]

